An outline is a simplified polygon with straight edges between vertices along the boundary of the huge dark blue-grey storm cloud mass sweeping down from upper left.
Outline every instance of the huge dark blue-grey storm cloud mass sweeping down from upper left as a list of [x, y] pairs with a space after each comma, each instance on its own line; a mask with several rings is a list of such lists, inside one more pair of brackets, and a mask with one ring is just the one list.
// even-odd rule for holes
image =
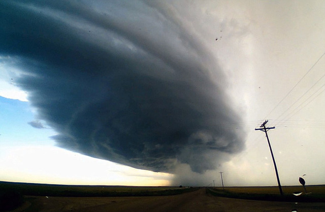
[[[213, 169], [243, 138], [220, 67], [164, 5], [2, 1], [0, 54], [15, 57], [58, 145], [153, 171]], [[212, 39], [213, 42], [213, 39]]]

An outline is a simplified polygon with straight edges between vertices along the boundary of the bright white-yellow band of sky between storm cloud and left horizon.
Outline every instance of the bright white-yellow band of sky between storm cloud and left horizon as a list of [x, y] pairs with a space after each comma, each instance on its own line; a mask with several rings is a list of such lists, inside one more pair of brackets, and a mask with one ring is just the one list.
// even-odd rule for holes
[[[172, 175], [135, 169], [55, 146], [8, 146], [0, 180], [58, 185], [170, 186]], [[43, 160], [45, 159], [45, 160]]]

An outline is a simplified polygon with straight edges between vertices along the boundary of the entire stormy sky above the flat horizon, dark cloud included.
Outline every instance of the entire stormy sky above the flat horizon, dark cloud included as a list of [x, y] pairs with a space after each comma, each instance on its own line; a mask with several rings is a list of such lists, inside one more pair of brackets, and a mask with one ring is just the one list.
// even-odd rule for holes
[[0, 180], [325, 183], [323, 1], [1, 4]]

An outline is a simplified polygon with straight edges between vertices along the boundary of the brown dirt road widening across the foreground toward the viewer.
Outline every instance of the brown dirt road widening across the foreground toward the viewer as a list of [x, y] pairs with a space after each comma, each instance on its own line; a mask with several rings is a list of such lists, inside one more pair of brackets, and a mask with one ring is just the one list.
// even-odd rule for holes
[[215, 197], [205, 189], [176, 196], [156, 197], [26, 197], [26, 203], [15, 212], [101, 212], [101, 211], [325, 211], [325, 203], [293, 203], [241, 200]]

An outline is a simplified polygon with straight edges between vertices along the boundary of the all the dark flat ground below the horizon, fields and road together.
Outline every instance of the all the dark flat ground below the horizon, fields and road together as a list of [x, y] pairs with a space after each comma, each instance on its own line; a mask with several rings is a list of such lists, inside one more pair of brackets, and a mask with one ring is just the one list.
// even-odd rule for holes
[[[312, 192], [312, 194], [302, 194], [296, 197], [291, 192], [303, 191], [302, 187], [283, 187], [285, 193], [283, 197], [278, 194], [278, 187], [225, 187], [223, 191], [222, 188], [217, 187], [60, 186], [0, 183], [0, 189], [2, 191], [15, 190], [23, 194], [23, 203], [15, 209], [12, 209], [12, 212], [281, 212], [291, 211], [293, 209], [297, 209], [299, 212], [318, 212], [325, 211], [325, 200], [319, 199], [319, 197], [323, 198], [325, 196], [324, 188], [324, 186], [308, 186], [307, 192]], [[300, 198], [303, 196], [307, 196], [309, 199]], [[270, 197], [275, 198], [277, 201], [272, 201], [272, 198], [270, 200]], [[287, 197], [293, 197], [293, 199], [286, 199]]]

